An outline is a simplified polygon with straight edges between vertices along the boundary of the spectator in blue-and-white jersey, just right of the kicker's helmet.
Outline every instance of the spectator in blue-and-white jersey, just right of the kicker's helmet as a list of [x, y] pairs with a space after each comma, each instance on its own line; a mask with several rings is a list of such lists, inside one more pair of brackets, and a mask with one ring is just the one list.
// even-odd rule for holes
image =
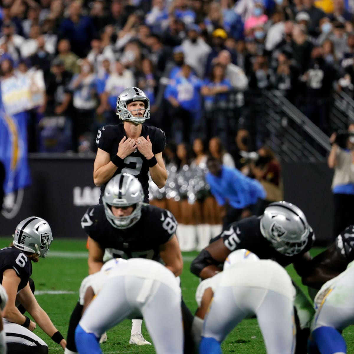
[[192, 68], [187, 64], [183, 64], [182, 70], [166, 87], [165, 98], [171, 105], [171, 135], [176, 143], [189, 142], [196, 134], [201, 118], [200, 87], [201, 80], [192, 74]]

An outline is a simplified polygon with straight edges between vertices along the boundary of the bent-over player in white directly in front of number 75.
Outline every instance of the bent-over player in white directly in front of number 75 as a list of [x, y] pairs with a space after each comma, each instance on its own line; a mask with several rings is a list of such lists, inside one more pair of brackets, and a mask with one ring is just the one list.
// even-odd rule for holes
[[291, 278], [281, 265], [245, 249], [230, 253], [223, 272], [202, 281], [196, 291], [196, 338], [205, 318], [199, 353], [221, 354], [221, 342], [230, 331], [244, 318], [256, 315], [267, 353], [292, 354], [294, 297]]

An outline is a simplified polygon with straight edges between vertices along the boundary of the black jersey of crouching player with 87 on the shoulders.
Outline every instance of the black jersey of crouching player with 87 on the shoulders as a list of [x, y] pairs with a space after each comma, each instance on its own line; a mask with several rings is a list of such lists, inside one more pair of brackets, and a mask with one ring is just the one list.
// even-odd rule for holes
[[117, 229], [107, 220], [103, 205], [96, 205], [87, 209], [81, 226], [102, 250], [107, 249], [116, 258], [160, 261], [160, 245], [173, 237], [177, 221], [169, 211], [143, 204], [136, 224]]

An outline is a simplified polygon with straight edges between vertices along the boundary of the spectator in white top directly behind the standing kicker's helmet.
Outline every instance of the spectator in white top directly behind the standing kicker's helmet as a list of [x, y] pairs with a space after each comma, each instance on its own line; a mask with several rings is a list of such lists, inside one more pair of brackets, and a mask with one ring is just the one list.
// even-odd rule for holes
[[131, 70], [125, 69], [124, 66], [117, 61], [115, 63], [115, 71], [109, 75], [106, 81], [97, 113], [102, 114], [105, 110], [109, 110], [115, 115], [117, 97], [127, 87], [132, 86], [135, 86], [133, 73]]

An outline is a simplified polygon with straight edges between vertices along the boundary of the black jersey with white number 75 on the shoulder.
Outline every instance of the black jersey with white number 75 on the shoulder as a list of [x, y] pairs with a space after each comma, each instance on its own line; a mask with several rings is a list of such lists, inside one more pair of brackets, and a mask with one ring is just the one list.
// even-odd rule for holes
[[231, 223], [226, 230], [212, 241], [220, 237], [224, 245], [231, 252], [239, 249], [249, 250], [261, 259], [272, 259], [283, 267], [296, 262], [302, 255], [310, 250], [314, 242], [314, 236], [309, 236], [306, 247], [295, 256], [285, 256], [277, 252], [270, 242], [264, 238], [260, 228], [261, 219], [256, 216], [245, 218], [241, 221]]

